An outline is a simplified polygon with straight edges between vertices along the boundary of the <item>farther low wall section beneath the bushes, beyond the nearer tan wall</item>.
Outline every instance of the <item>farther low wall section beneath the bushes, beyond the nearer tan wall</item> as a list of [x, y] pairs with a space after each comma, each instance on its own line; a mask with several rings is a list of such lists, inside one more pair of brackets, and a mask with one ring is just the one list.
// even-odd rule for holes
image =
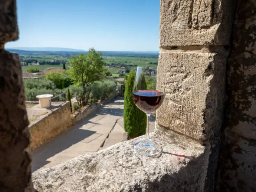
[[73, 122], [78, 122], [79, 120], [85, 118], [86, 116], [90, 115], [94, 110], [98, 109], [102, 104], [106, 104], [108, 102], [110, 102], [112, 99], [114, 99], [117, 95], [114, 94], [110, 97], [108, 97], [107, 99], [105, 99], [102, 103], [99, 101], [97, 103], [93, 103], [91, 105], [89, 105], [88, 107], [86, 107], [83, 111], [76, 113], [73, 116]]

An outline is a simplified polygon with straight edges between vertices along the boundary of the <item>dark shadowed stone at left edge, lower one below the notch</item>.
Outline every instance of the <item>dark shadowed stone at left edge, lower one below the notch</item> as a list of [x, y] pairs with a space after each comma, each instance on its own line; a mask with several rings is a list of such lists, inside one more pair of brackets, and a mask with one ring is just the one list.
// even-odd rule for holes
[[19, 56], [0, 50], [0, 191], [33, 190], [28, 125]]

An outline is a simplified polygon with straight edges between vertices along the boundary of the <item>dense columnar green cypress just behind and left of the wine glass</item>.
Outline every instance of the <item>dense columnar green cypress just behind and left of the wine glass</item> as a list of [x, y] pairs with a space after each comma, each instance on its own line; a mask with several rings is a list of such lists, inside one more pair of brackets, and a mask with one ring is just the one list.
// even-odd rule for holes
[[[124, 129], [129, 138], [138, 137], [146, 133], [147, 116], [134, 104], [132, 99], [135, 72], [130, 72], [124, 93]], [[145, 79], [145, 77], [144, 77]], [[146, 88], [146, 87], [141, 87]]]

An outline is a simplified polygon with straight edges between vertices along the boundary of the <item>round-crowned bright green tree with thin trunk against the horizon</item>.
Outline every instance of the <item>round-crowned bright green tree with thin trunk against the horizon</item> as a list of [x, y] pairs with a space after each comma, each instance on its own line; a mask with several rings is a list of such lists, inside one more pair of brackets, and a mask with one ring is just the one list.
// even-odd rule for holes
[[[82, 100], [85, 100], [86, 97], [86, 87], [105, 77], [106, 68], [104, 64], [101, 53], [97, 53], [93, 48], [89, 49], [87, 55], [80, 54], [71, 57], [70, 65], [72, 67], [68, 70], [68, 73], [77, 85], [82, 86]], [[83, 102], [83, 105], [86, 105], [86, 102]]]

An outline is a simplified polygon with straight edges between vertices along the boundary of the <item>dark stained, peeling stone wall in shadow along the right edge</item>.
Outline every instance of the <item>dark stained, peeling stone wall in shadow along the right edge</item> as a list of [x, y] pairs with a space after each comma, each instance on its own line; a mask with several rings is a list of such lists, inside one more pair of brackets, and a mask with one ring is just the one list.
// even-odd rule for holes
[[256, 1], [238, 0], [227, 64], [218, 191], [256, 191]]

